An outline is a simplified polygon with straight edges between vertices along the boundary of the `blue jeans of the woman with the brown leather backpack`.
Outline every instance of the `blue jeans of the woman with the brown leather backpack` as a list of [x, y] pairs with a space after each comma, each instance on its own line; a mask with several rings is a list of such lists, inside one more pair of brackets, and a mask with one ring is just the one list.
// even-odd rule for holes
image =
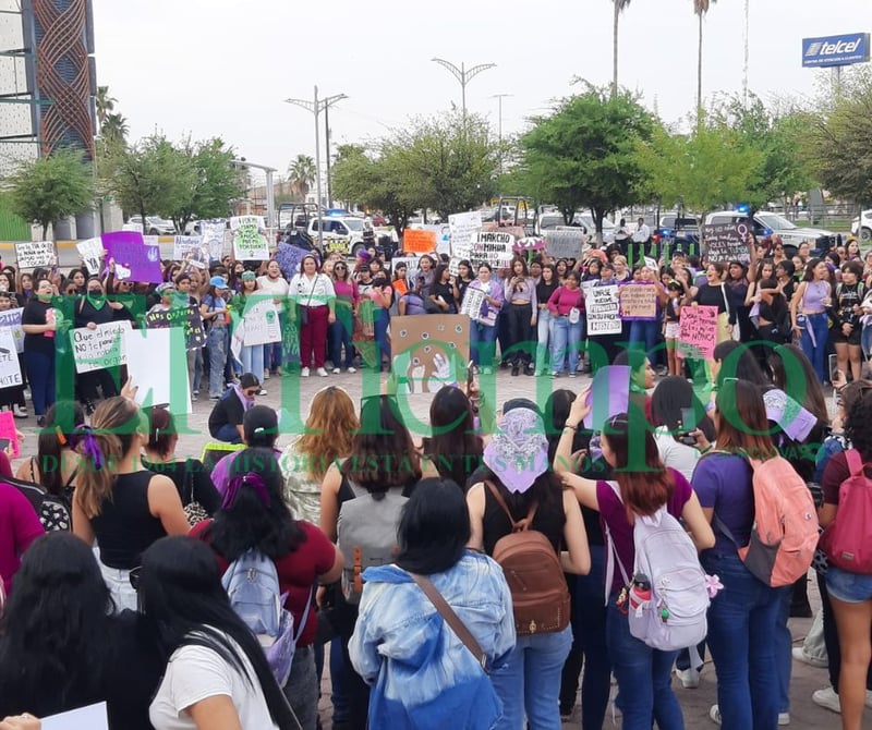
[[524, 715], [534, 730], [560, 730], [560, 672], [571, 645], [570, 626], [518, 637], [506, 664], [491, 674], [502, 701], [495, 730], [521, 730]]

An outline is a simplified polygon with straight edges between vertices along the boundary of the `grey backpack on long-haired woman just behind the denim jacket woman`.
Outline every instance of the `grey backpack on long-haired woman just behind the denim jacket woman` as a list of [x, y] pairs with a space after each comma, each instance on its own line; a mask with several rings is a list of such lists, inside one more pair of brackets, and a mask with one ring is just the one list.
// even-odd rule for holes
[[403, 497], [402, 487], [372, 494], [351, 479], [347, 482], [354, 499], [339, 508], [336, 545], [346, 559], [342, 595], [346, 601], [356, 605], [363, 594], [363, 571], [387, 565], [397, 558], [397, 528], [409, 499]]

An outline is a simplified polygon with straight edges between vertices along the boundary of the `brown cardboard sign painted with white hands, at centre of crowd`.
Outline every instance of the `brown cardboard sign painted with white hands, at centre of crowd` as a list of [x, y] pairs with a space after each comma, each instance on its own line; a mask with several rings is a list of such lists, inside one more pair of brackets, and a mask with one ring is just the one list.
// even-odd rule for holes
[[470, 354], [470, 319], [463, 315], [391, 317], [395, 373], [411, 392], [436, 392], [462, 379]]

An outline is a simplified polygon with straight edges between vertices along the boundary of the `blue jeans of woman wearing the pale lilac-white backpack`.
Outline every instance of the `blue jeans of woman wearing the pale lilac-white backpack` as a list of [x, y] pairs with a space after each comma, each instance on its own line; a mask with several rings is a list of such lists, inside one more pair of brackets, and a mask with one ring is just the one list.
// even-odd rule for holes
[[[681, 705], [673, 692], [673, 664], [678, 652], [659, 652], [630, 634], [630, 622], [620, 611], [617, 594], [608, 600], [606, 641], [611, 668], [618, 680], [615, 704], [623, 716], [623, 730], [683, 730]], [[728, 726], [724, 727], [738, 727]]]

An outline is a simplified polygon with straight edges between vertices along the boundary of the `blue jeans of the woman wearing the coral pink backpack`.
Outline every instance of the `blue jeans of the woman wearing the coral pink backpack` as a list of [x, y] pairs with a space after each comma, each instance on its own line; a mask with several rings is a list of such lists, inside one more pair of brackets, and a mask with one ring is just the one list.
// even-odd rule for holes
[[755, 579], [739, 556], [702, 553], [702, 565], [724, 589], [708, 607], [708, 649], [717, 672], [724, 728], [773, 730], [778, 725], [778, 673], [773, 636], [780, 595]]

